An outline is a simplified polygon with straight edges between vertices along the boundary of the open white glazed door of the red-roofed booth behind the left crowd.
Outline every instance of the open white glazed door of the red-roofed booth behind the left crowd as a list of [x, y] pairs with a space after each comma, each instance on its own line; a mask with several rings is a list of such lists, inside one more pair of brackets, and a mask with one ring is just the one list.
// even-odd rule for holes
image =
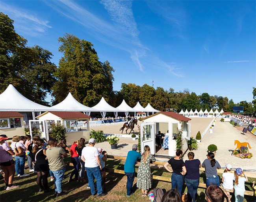
[[35, 130], [38, 131], [38, 135], [41, 138], [45, 138], [46, 141], [49, 140], [48, 126], [46, 124], [46, 121], [29, 120], [29, 129], [30, 129], [30, 136], [31, 137], [32, 137], [32, 130], [35, 129]]

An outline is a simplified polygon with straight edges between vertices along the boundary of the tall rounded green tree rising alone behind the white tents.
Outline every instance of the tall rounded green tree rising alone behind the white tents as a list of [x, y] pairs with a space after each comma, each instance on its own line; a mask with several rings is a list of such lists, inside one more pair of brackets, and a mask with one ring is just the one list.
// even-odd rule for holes
[[101, 97], [110, 101], [114, 96], [114, 70], [109, 62], [100, 62], [93, 44], [74, 35], [59, 37], [59, 43], [63, 57], [54, 74], [57, 77], [52, 88], [54, 103], [63, 101], [69, 92], [77, 101], [90, 107], [98, 103]]

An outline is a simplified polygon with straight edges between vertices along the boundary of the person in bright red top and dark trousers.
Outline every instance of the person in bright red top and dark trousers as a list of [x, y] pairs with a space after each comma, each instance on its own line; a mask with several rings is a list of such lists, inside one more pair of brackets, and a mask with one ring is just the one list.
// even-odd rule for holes
[[74, 141], [73, 144], [70, 147], [70, 153], [71, 153], [71, 162], [74, 165], [74, 170], [71, 172], [68, 182], [72, 181], [72, 177], [75, 175], [75, 180], [78, 180], [78, 171], [79, 171], [79, 155], [76, 151], [78, 140]]

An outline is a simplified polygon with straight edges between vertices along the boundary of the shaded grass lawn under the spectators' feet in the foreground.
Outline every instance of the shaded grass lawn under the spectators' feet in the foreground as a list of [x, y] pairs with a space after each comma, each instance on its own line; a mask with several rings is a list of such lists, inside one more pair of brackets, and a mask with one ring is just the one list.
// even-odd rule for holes
[[[66, 158], [65, 161], [70, 161], [70, 158]], [[108, 160], [106, 163], [106, 167], [123, 170], [124, 161], [121, 160]], [[138, 166], [136, 167], [137, 171]], [[171, 177], [171, 173], [165, 171], [165, 169], [158, 168], [156, 166], [152, 167], [152, 174]], [[62, 201], [86, 201], [86, 202], [149, 202], [148, 197], [141, 196], [141, 190], [136, 189], [136, 184], [134, 185], [135, 194], [126, 197], [126, 176], [124, 174], [117, 173], [107, 173], [106, 176], [106, 192], [108, 193], [106, 196], [97, 197], [91, 196], [90, 189], [87, 189], [87, 181], [85, 183], [77, 183], [72, 181], [67, 183], [69, 175], [72, 171], [72, 166], [66, 166], [65, 179], [63, 180], [63, 190], [69, 191], [69, 194], [64, 196], [54, 197], [54, 191], [49, 193], [38, 193], [39, 187], [36, 184], [36, 176], [37, 174], [30, 174], [30, 176], [25, 178], [18, 178], [15, 176], [14, 183], [19, 184], [20, 187], [17, 189], [12, 189], [9, 191], [4, 190], [4, 180], [1, 180], [0, 185], [0, 201], [1, 202], [62, 202]], [[25, 173], [28, 173], [28, 169], [26, 169]], [[204, 173], [200, 174], [200, 182], [204, 182], [205, 175]], [[249, 182], [246, 183], [246, 190], [251, 190], [251, 182], [253, 179], [249, 179]], [[136, 182], [136, 178], [134, 180]], [[54, 182], [50, 182], [50, 177], [48, 178], [48, 184], [52, 189], [54, 189]], [[164, 191], [168, 191], [171, 189], [171, 183], [162, 182], [159, 180], [153, 180], [153, 188], [161, 187]], [[149, 190], [151, 192], [152, 190]], [[198, 198], [197, 201], [205, 201], [205, 189], [198, 189]], [[187, 193], [186, 186], [184, 185], [184, 193]], [[234, 194], [232, 194], [232, 201], [234, 201]], [[253, 201], [252, 196], [245, 196], [244, 201]]]

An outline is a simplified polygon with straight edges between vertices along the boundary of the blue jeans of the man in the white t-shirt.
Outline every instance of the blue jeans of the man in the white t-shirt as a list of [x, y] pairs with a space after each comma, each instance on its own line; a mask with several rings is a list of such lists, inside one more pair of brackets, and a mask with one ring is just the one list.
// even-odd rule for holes
[[100, 167], [94, 167], [94, 168], [89, 168], [89, 167], [85, 167], [86, 169], [86, 173], [87, 173], [87, 177], [88, 177], [88, 184], [91, 188], [91, 194], [95, 195], [96, 191], [95, 191], [95, 187], [94, 187], [94, 178], [96, 179], [97, 182], [97, 194], [100, 195], [103, 193], [103, 189], [102, 189], [102, 177], [101, 177], [101, 172], [100, 172]]

